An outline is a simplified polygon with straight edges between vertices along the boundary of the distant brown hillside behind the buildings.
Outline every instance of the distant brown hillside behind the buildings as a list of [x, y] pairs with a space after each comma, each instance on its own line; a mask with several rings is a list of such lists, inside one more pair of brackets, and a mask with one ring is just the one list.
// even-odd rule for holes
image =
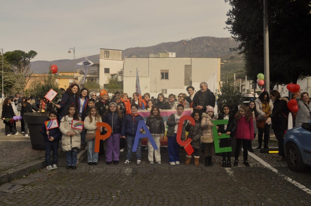
[[[160, 43], [150, 47], [127, 48], [122, 51], [122, 59], [124, 59], [125, 56], [131, 57], [132, 55], [136, 55], [137, 57], [148, 57], [151, 53], [156, 54], [159, 52], [176, 52], [176, 57], [190, 57], [190, 42], [186, 42], [186, 45], [183, 44], [183, 40], [179, 40], [178, 42]], [[236, 71], [243, 68], [243, 60], [240, 55], [231, 52], [230, 48], [237, 47], [238, 45], [239, 44], [232, 38], [197, 37], [192, 39], [192, 56], [220, 57], [221, 61], [228, 60], [227, 64], [221, 65], [222, 71]], [[84, 59], [84, 57], [76, 59], [75, 63], [81, 62]], [[88, 56], [88, 59], [94, 63], [99, 63], [99, 54]], [[34, 70], [35, 74], [45, 73], [50, 64], [56, 64], [59, 71], [70, 71], [73, 69], [73, 60], [69, 59], [33, 61], [31, 62], [31, 69]], [[221, 73], [221, 76], [223, 76], [223, 72]]]

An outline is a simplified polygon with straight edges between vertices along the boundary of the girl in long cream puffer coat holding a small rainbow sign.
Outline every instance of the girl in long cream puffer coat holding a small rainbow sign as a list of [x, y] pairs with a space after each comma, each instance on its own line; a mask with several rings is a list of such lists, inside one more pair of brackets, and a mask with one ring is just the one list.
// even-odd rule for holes
[[81, 137], [80, 129], [72, 129], [72, 121], [81, 120], [78, 115], [78, 110], [75, 106], [68, 107], [66, 116], [60, 120], [59, 129], [63, 134], [62, 148], [66, 152], [67, 167], [66, 169], [77, 169], [77, 151], [80, 149]]

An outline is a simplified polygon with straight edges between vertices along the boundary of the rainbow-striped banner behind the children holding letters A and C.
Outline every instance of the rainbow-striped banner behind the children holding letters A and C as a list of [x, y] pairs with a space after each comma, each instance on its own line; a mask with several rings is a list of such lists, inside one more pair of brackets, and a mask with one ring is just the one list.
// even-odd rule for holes
[[[183, 111], [183, 115], [191, 116], [192, 112], [193, 112], [192, 108], [191, 109], [185, 109]], [[144, 118], [144, 120], [146, 122], [147, 118], [150, 115], [150, 110], [138, 110], [138, 113]], [[175, 113], [177, 113], [176, 110], [161, 110], [160, 111], [160, 114], [161, 114], [161, 117], [163, 118], [164, 126], [165, 126], [165, 137], [164, 137], [164, 140], [160, 141], [161, 146], [167, 146], [166, 131], [167, 131], [168, 126], [166, 125], [166, 121], [167, 121], [167, 119], [169, 119], [169, 115], [175, 114]], [[186, 132], [186, 136], [187, 136], [187, 134], [188, 134], [188, 132]], [[148, 140], [148, 138], [142, 139], [142, 145], [146, 146], [147, 140]]]

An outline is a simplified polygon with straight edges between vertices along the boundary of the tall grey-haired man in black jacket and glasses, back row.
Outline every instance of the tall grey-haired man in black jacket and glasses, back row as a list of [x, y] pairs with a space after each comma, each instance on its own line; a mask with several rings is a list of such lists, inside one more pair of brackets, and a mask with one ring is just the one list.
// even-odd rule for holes
[[202, 115], [206, 111], [208, 105], [215, 107], [215, 95], [207, 88], [206, 82], [200, 83], [200, 91], [197, 91], [193, 97], [193, 111], [197, 111]]

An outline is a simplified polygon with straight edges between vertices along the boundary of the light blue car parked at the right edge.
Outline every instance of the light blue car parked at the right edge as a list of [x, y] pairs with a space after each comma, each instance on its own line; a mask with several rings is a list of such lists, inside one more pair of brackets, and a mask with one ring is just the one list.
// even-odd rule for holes
[[301, 172], [311, 166], [311, 121], [286, 132], [284, 149], [291, 170]]

